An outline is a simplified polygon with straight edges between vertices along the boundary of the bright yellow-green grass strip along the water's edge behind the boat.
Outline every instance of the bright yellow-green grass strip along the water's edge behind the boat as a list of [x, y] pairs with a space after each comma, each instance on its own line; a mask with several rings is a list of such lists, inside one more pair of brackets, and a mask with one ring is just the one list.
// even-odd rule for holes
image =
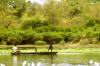
[[[23, 53], [30, 53], [30, 52], [35, 52], [33, 49], [22, 49], [19, 50], [20, 52]], [[47, 52], [48, 49], [38, 49], [37, 52]], [[12, 52], [12, 49], [2, 49], [0, 50], [0, 54], [9, 54]], [[58, 52], [58, 53], [100, 53], [100, 49], [84, 49], [84, 48], [77, 48], [77, 49], [53, 49], [53, 52]]]

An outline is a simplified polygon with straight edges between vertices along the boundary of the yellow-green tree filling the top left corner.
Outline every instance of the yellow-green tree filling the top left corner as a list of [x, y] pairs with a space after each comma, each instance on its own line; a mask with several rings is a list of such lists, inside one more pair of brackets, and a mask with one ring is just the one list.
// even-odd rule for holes
[[18, 26], [25, 5], [25, 0], [0, 0], [0, 25], [5, 28]]

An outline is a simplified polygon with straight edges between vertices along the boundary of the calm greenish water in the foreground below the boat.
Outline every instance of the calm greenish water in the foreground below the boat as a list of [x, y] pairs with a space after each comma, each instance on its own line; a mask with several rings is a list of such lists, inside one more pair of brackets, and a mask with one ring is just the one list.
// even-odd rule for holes
[[100, 66], [100, 53], [63, 53], [57, 55], [0, 55], [5, 66]]

